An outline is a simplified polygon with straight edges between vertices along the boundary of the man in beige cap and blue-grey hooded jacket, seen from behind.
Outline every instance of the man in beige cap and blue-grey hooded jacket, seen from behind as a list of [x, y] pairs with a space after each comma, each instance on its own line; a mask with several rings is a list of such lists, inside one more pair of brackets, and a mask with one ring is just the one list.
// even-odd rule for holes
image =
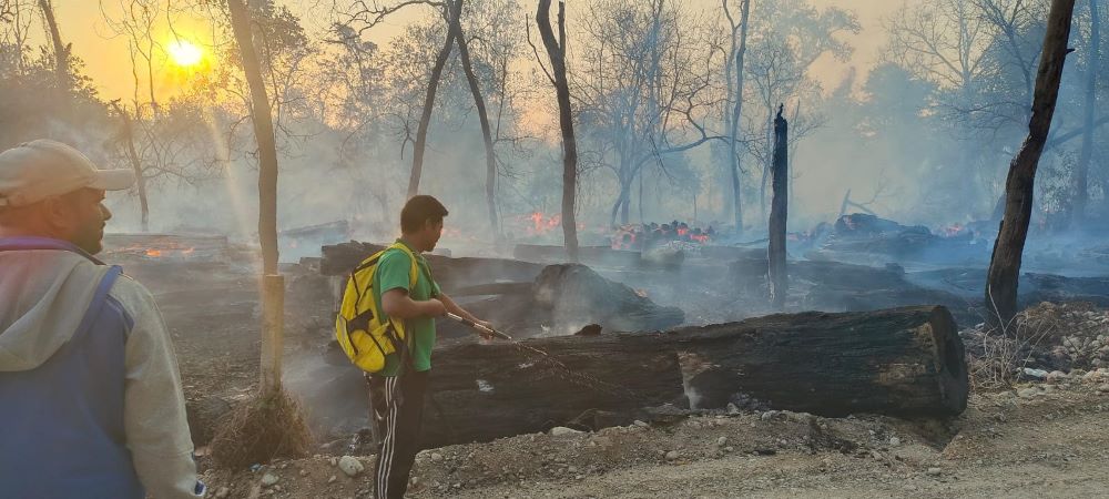
[[154, 298], [92, 256], [132, 183], [54, 141], [0, 153], [2, 497], [204, 495]]

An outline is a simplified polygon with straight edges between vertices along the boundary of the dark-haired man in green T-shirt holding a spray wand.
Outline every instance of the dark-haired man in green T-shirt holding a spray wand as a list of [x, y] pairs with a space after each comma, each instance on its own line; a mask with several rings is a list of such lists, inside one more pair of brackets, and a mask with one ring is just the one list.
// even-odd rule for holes
[[405, 322], [409, 342], [407, 355], [394, 353], [386, 357], [385, 369], [369, 376], [372, 421], [381, 435], [377, 452], [374, 489], [378, 499], [403, 498], [408, 488], [408, 472], [419, 450], [420, 419], [424, 416], [424, 394], [431, 369], [435, 347], [435, 317], [447, 312], [489, 326], [459, 307], [445, 295], [427, 261], [420, 254], [435, 249], [442, 234], [447, 208], [427, 195], [408, 200], [400, 211], [400, 238], [415, 256], [419, 269], [415, 286], [410, 283], [411, 259], [399, 248], [381, 255], [374, 274], [373, 293], [377, 309], [385, 317]]

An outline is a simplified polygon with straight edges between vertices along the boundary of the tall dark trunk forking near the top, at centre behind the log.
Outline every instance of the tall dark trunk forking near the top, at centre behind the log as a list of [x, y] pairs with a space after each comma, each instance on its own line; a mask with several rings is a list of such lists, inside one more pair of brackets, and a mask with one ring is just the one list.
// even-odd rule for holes
[[570, 83], [566, 78], [566, 2], [558, 3], [558, 32], [550, 21], [550, 0], [539, 0], [536, 12], [536, 23], [543, 39], [543, 48], [551, 60], [551, 72], [554, 78], [554, 91], [558, 98], [558, 121], [562, 130], [562, 240], [567, 257], [578, 261], [578, 223], [573, 205], [578, 187], [578, 141], [573, 136], [573, 111], [570, 108]]

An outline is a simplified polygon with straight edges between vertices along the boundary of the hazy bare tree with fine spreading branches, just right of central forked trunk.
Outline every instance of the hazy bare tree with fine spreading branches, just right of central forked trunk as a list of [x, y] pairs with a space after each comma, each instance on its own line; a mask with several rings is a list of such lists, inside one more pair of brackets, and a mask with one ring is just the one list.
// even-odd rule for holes
[[574, 78], [581, 122], [619, 185], [609, 221], [628, 223], [632, 186], [648, 166], [667, 172], [667, 156], [711, 140], [705, 119], [715, 109], [710, 44], [701, 21], [654, 0], [589, 3], [582, 70]]

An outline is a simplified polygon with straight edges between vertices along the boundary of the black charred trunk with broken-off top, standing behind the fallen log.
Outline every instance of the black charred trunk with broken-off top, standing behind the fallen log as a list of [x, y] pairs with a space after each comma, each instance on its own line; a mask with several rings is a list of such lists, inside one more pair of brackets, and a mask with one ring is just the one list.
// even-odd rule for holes
[[788, 278], [785, 271], [785, 226], [788, 218], [788, 193], [786, 182], [790, 176], [790, 125], [782, 118], [782, 108], [777, 108], [774, 118], [774, 166], [773, 198], [770, 207], [770, 244], [767, 245], [766, 267], [770, 296], [774, 307], [785, 306], [785, 295], [788, 291]]

